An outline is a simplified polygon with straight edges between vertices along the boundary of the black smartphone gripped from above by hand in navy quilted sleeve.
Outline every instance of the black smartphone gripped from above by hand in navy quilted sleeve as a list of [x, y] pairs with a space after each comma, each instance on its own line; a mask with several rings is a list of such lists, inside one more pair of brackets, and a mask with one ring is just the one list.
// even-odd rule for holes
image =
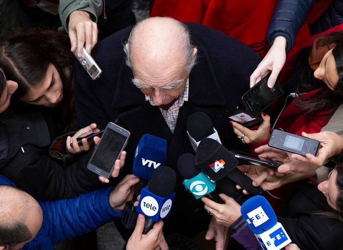
[[251, 117], [256, 117], [270, 106], [280, 95], [283, 94], [278, 81], [273, 88], [269, 88], [268, 78], [270, 74], [262, 78], [254, 87], [246, 91], [242, 96], [243, 105]]

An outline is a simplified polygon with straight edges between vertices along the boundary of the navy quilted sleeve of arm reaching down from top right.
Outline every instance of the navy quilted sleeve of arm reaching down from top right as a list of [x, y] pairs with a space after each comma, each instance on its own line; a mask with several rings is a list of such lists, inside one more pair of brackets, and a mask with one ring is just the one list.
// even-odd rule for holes
[[270, 45], [278, 36], [287, 40], [288, 52], [316, 0], [279, 0], [270, 20], [267, 41]]

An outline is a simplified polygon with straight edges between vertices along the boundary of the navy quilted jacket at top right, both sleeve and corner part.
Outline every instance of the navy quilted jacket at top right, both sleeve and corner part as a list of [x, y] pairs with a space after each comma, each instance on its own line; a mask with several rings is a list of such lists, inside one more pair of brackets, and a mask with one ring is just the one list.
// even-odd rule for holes
[[[316, 0], [279, 0], [270, 20], [267, 41], [272, 45], [274, 39], [283, 36], [287, 40], [286, 51], [289, 51]], [[318, 20], [309, 24], [312, 35], [343, 23], [343, 0], [333, 0]]]

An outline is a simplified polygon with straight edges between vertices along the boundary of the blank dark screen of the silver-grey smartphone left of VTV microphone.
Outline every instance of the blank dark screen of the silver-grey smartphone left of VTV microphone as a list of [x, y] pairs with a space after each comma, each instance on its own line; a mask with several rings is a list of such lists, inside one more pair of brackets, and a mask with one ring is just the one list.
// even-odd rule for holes
[[109, 173], [116, 159], [119, 158], [126, 138], [126, 136], [107, 128], [90, 163]]

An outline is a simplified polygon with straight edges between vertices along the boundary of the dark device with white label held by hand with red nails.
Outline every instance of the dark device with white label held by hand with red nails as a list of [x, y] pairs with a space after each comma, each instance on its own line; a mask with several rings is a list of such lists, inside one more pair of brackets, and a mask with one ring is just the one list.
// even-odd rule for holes
[[261, 117], [251, 117], [246, 110], [237, 107], [234, 110], [225, 110], [220, 114], [222, 117], [240, 123], [245, 127], [252, 127], [262, 122]]

